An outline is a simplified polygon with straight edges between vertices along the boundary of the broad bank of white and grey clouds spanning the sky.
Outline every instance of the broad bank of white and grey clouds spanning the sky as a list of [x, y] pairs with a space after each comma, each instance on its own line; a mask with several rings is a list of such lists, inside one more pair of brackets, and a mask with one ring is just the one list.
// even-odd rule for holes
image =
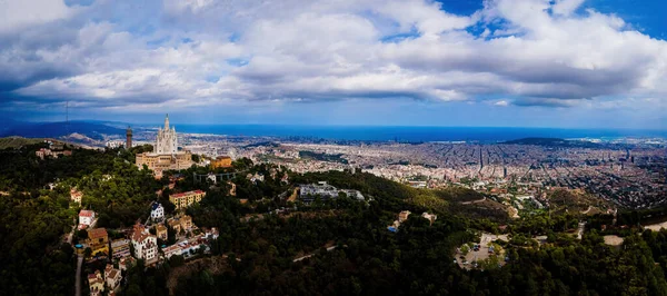
[[578, 107], [667, 95], [667, 43], [615, 16], [575, 13], [580, 0], [490, 0], [470, 16], [430, 0], [169, 0], [145, 21], [117, 17], [109, 1], [89, 13], [48, 1], [33, 18], [10, 2], [3, 11], [28, 17], [0, 28], [30, 26], [0, 43], [0, 91], [34, 100], [150, 108], [507, 95], [494, 105]]

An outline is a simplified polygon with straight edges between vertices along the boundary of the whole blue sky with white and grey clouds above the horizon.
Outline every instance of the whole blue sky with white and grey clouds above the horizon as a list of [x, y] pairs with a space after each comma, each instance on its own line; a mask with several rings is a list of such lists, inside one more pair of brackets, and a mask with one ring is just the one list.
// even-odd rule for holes
[[666, 10], [661, 0], [0, 0], [0, 117], [665, 130]]

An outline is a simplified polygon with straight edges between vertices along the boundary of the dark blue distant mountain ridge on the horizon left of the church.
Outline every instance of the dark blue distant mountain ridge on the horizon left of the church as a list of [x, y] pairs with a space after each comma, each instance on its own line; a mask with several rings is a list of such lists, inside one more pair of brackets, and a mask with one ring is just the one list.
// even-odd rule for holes
[[88, 121], [21, 122], [0, 132], [0, 137], [20, 136], [26, 138], [60, 138], [80, 134], [93, 140], [103, 140], [103, 135], [125, 135], [125, 130], [121, 128]]

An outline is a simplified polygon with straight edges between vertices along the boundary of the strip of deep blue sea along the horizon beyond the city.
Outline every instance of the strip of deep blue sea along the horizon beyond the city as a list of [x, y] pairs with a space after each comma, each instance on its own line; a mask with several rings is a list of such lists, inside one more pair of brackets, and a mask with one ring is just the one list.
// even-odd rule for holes
[[303, 137], [362, 141], [467, 141], [499, 142], [521, 138], [615, 140], [667, 138], [667, 130], [559, 129], [514, 127], [391, 127], [391, 126], [287, 126], [287, 125], [177, 125], [177, 131], [250, 137]]

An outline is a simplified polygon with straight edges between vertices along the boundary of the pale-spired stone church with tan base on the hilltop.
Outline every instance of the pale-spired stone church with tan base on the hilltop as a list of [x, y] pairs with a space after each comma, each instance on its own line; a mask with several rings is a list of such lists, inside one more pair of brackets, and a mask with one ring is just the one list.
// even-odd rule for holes
[[165, 118], [165, 128], [158, 130], [153, 151], [138, 154], [136, 164], [139, 168], [146, 165], [156, 178], [161, 178], [165, 170], [187, 169], [193, 165], [190, 151], [178, 150], [176, 127], [169, 127], [169, 115]]

